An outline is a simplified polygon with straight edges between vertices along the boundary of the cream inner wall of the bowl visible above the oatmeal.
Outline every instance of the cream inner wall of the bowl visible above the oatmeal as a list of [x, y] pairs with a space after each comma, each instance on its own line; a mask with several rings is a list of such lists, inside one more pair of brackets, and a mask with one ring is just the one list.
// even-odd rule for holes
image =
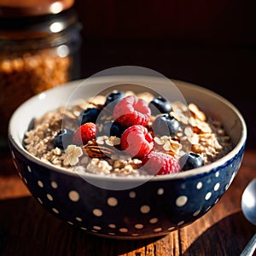
[[[166, 81], [166, 79], [135, 76], [81, 79], [33, 96], [20, 105], [10, 119], [9, 140], [22, 154], [32, 158], [23, 148], [22, 140], [33, 118], [38, 118], [44, 113], [60, 106], [74, 104], [81, 98], [86, 99], [90, 96], [96, 96], [96, 91], [108, 92], [108, 90], [113, 90], [115, 84], [120, 84], [117, 85], [119, 90], [135, 90], [138, 92], [138, 90], [147, 89], [149, 91], [153, 90], [171, 101], [178, 98], [181, 102], [194, 102], [207, 115], [212, 116], [213, 119], [220, 120], [224, 125], [224, 129], [230, 135], [234, 149], [225, 156], [226, 158], [234, 156], [246, 141], [247, 129], [241, 113], [222, 96], [218, 96], [211, 90], [204, 89], [195, 84], [179, 80], [172, 80], [171, 82], [170, 80]], [[142, 84], [146, 87], [138, 88], [132, 84]], [[173, 86], [176, 90], [173, 90]], [[173, 91], [175, 91], [174, 94], [172, 93]], [[206, 172], [213, 167], [212, 165], [218, 165], [218, 163], [214, 162], [209, 166], [197, 168], [201, 170], [196, 172]], [[186, 176], [195, 173], [194, 170], [191, 171], [180, 174]]]

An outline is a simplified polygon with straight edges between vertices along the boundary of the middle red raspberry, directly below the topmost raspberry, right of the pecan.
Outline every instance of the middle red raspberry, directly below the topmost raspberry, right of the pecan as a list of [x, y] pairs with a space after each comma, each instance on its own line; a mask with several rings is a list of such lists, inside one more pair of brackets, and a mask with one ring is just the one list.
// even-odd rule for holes
[[121, 137], [121, 149], [131, 157], [143, 158], [154, 148], [154, 140], [143, 125], [132, 125]]

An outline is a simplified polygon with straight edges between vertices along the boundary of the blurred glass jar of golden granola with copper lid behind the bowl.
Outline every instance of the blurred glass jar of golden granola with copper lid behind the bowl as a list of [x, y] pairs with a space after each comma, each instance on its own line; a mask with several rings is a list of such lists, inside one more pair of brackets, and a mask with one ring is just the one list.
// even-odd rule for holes
[[15, 108], [79, 78], [81, 25], [72, 6], [73, 0], [0, 3], [0, 148]]

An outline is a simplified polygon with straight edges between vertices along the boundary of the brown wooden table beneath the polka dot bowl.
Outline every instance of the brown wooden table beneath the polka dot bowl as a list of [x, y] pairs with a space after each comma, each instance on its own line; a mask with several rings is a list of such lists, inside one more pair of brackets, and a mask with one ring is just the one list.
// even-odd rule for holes
[[247, 149], [230, 189], [205, 216], [164, 237], [118, 241], [91, 236], [55, 218], [32, 198], [9, 154], [0, 159], [0, 255], [232, 255], [256, 232], [241, 212], [241, 194], [256, 177], [256, 151]]

